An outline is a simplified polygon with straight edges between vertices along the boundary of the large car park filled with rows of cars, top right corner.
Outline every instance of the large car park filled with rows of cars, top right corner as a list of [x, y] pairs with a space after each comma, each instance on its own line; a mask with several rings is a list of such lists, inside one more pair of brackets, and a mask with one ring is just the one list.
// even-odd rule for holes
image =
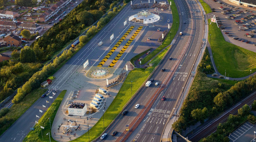
[[212, 11], [215, 11], [208, 14], [208, 17], [212, 18], [213, 15], [219, 17], [216, 20], [224, 39], [237, 46], [256, 52], [256, 40], [254, 39], [254, 35], [256, 35], [256, 12], [231, 2], [217, 1], [207, 0], [205, 2], [209, 4]]

